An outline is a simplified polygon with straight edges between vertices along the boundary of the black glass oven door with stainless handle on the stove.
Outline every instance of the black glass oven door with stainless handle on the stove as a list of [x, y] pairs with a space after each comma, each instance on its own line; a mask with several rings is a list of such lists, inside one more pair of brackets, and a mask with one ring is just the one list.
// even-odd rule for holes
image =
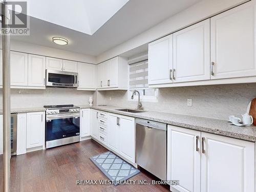
[[46, 141], [80, 135], [80, 113], [46, 116]]

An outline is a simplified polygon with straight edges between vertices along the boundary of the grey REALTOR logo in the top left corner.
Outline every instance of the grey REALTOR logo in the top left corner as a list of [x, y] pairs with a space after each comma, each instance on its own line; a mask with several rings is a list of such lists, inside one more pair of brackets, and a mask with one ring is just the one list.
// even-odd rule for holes
[[1, 2], [1, 13], [7, 5], [10, 18], [9, 29], [2, 23], [2, 35], [29, 35], [29, 17], [27, 15], [27, 2]]

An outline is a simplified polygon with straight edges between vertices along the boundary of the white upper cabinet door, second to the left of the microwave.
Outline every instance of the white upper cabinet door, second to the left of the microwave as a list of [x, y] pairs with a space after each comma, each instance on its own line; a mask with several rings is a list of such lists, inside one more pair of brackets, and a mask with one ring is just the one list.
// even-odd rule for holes
[[28, 54], [11, 51], [11, 86], [28, 86]]

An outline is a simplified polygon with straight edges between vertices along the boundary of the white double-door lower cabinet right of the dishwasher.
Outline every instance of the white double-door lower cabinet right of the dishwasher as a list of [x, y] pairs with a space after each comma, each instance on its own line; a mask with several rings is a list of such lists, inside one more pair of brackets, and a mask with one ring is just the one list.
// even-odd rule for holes
[[253, 192], [254, 142], [168, 125], [167, 180], [178, 191]]

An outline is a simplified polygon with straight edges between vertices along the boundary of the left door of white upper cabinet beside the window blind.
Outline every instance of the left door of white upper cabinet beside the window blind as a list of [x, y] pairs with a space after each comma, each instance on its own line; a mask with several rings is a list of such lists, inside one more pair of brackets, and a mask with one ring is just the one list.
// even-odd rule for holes
[[107, 73], [108, 73], [108, 63], [102, 62], [97, 65], [97, 87], [105, 88], [107, 87]]

